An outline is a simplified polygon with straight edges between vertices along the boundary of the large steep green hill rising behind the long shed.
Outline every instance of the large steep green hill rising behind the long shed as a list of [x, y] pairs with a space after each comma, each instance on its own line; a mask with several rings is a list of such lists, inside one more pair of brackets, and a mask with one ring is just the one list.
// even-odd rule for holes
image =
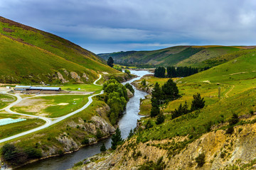
[[0, 17], [0, 83], [90, 83], [118, 71], [73, 42]]

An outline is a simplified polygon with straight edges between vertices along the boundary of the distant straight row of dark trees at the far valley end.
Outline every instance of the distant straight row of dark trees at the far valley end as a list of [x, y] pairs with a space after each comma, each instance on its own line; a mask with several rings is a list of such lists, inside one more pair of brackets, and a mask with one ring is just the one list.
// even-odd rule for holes
[[[196, 67], [157, 67], [154, 72], [154, 77], [188, 77], [192, 74], [196, 74], [198, 72], [202, 72], [206, 69], [210, 69], [210, 67], [204, 67], [204, 68], [196, 68]], [[167, 75], [166, 75], [167, 71]]]

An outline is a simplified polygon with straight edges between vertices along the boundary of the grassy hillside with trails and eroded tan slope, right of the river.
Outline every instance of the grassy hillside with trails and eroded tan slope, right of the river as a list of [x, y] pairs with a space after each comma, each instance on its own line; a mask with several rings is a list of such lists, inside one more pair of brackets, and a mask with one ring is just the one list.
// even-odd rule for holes
[[[181, 98], [161, 106], [165, 115], [164, 123], [156, 125], [156, 118], [142, 118], [134, 136], [117, 151], [101, 158], [98, 161], [100, 163], [83, 166], [90, 166], [91, 169], [149, 169], [152, 166], [162, 169], [254, 167], [255, 157], [250, 155], [254, 155], [252, 148], [255, 147], [256, 130], [256, 50], [239, 53], [239, 56], [191, 77], [176, 79]], [[229, 57], [232, 59], [233, 55]], [[144, 89], [151, 88], [156, 82], [162, 86], [168, 80], [156, 77], [144, 79]], [[139, 87], [142, 86], [141, 81], [136, 83]], [[218, 89], [221, 92], [220, 98]], [[181, 103], [187, 101], [189, 109], [192, 96], [196, 93], [201, 94], [206, 106], [178, 118], [171, 118], [171, 111]], [[144, 107], [141, 109], [149, 115], [150, 107], [147, 106], [150, 101], [146, 100], [142, 100]], [[238, 114], [235, 123], [230, 121], [235, 119], [234, 114]], [[198, 163], [200, 154], [205, 155], [201, 158], [202, 168]], [[110, 162], [108, 157], [111, 165], [107, 164]], [[161, 160], [162, 164], [157, 160]]]

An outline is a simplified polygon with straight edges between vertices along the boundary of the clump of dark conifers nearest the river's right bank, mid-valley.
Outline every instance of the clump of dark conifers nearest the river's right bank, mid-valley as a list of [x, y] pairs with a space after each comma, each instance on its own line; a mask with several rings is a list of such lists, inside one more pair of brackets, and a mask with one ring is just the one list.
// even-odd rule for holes
[[156, 82], [151, 96], [151, 112], [150, 116], [156, 118], [156, 124], [164, 122], [164, 113], [160, 111], [161, 104], [172, 101], [179, 97], [178, 87], [172, 79], [169, 79], [163, 86], [159, 86]]

